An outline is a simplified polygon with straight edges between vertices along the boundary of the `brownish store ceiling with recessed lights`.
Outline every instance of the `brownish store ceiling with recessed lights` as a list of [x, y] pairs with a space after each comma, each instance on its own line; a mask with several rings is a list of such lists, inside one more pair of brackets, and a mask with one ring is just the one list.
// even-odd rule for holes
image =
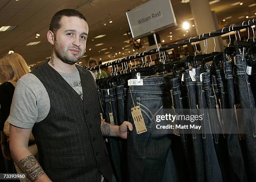
[[[73, 8], [82, 12], [89, 25], [89, 37], [87, 40], [86, 57], [94, 57], [102, 61], [116, 59], [127, 55], [133, 55], [136, 51], [142, 52], [148, 46], [147, 38], [143, 38], [143, 48], [133, 52], [133, 47], [127, 43], [128, 36], [123, 35], [129, 30], [125, 12], [141, 5], [148, 0], [0, 0], [0, 26], [18, 25], [12, 31], [0, 32], [0, 56], [9, 50], [20, 53], [28, 65], [38, 66], [51, 56], [51, 46], [46, 40], [51, 17], [58, 10]], [[209, 2], [212, 0], [209, 0]], [[177, 27], [159, 33], [162, 45], [177, 42], [183, 38], [197, 35], [195, 27], [189, 32], [182, 29], [182, 23], [188, 21], [194, 24], [193, 15], [189, 3], [181, 3], [181, 0], [171, 0], [174, 13], [178, 22]], [[220, 0], [212, 5], [211, 9], [217, 13], [220, 26], [225, 23], [239, 23], [246, 19], [246, 15], [255, 16], [256, 6], [248, 7], [256, 3], [256, 0], [241, 0], [243, 5], [231, 4], [237, 0]], [[225, 22], [222, 20], [230, 17]], [[109, 19], [113, 23], [109, 23]], [[106, 25], [104, 26], [104, 24]], [[172, 32], [170, 34], [169, 32]], [[36, 39], [36, 34], [40, 36]], [[97, 35], [106, 35], [102, 38], [94, 38]], [[170, 40], [172, 35], [172, 40]], [[185, 35], [185, 36], [184, 36]], [[41, 41], [38, 45], [26, 46], [29, 42]], [[100, 46], [97, 44], [104, 43]], [[112, 49], [110, 49], [112, 47]], [[89, 50], [91, 48], [91, 50]], [[123, 48], [123, 49], [122, 49]], [[99, 52], [100, 51], [100, 52]], [[130, 51], [130, 52], [128, 52]], [[120, 52], [120, 54], [119, 54]], [[117, 53], [117, 55], [115, 55]]]

